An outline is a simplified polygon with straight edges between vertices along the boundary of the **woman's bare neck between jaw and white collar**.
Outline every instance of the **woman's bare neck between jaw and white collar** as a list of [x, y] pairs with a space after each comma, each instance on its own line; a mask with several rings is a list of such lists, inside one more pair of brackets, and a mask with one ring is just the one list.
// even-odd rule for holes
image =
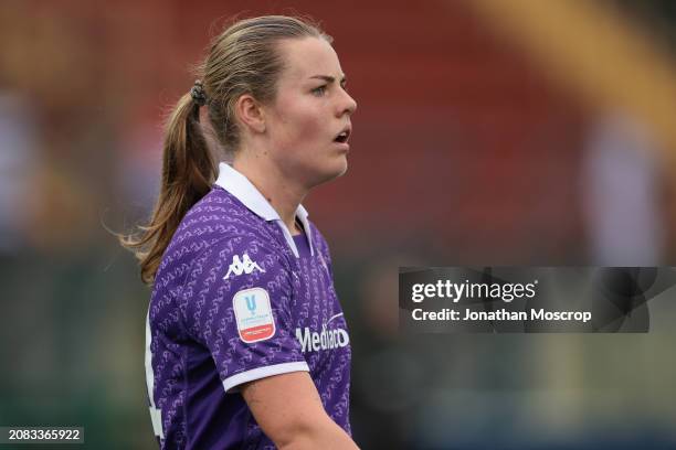
[[289, 182], [268, 158], [252, 151], [239, 151], [232, 167], [252, 182], [279, 214], [292, 235], [300, 233], [296, 226], [296, 210], [308, 190]]

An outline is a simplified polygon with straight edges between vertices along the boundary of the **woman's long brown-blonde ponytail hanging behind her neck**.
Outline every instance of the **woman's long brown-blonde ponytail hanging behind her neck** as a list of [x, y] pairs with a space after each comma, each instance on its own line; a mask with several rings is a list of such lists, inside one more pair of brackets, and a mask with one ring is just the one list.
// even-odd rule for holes
[[141, 280], [148, 285], [181, 219], [215, 181], [215, 164], [200, 127], [201, 100], [194, 93], [186, 94], [166, 124], [160, 192], [150, 223], [139, 226], [139, 236], [119, 236], [138, 258]]

